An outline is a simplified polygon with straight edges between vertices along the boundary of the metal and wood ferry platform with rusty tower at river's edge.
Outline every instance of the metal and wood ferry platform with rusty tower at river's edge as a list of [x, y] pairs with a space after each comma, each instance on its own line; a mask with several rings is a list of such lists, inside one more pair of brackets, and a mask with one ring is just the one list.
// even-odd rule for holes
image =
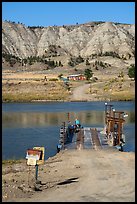
[[[81, 124], [71, 125], [70, 114], [68, 122], [63, 122], [60, 128], [60, 140], [57, 151], [61, 149], [95, 149], [116, 147], [123, 151], [125, 135], [123, 134], [124, 117], [123, 111], [116, 111], [112, 104], [105, 103], [104, 128], [82, 127]], [[67, 125], [66, 125], [67, 124]]]

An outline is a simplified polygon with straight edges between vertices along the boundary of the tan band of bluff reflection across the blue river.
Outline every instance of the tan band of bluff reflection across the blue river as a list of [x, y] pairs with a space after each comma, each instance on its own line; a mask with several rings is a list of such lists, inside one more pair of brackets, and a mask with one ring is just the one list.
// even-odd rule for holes
[[[135, 122], [135, 113], [126, 112], [128, 117], [126, 123]], [[78, 117], [82, 124], [104, 124], [104, 111], [81, 111], [79, 113], [70, 112], [70, 121]], [[60, 125], [63, 121], [68, 121], [68, 114], [62, 112], [55, 113], [4, 113], [2, 115], [3, 127], [30, 127], [30, 126], [52, 126]]]

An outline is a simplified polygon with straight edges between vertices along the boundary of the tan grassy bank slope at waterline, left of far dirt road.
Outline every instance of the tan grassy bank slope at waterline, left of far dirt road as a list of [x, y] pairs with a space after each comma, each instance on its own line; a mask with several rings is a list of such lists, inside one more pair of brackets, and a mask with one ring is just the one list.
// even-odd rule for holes
[[68, 94], [64, 83], [54, 81], [8, 82], [2, 87], [2, 100], [6, 102], [65, 100]]

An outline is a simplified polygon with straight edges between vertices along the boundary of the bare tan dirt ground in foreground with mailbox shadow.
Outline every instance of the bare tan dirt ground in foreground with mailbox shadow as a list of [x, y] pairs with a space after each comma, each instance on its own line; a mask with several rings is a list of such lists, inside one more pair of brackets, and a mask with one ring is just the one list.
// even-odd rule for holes
[[135, 202], [135, 153], [62, 150], [39, 165], [2, 165], [3, 202]]

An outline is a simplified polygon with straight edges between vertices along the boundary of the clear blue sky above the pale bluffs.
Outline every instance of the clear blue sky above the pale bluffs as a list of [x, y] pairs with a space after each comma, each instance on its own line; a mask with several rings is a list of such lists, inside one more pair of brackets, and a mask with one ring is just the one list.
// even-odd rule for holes
[[2, 2], [2, 20], [44, 27], [91, 21], [135, 24], [135, 2]]

